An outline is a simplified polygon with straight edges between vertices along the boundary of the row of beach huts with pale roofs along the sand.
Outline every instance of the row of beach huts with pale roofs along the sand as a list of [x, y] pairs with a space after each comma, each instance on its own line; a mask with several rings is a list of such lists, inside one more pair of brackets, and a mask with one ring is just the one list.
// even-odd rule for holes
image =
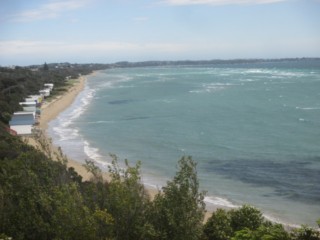
[[38, 95], [30, 95], [20, 102], [22, 111], [14, 112], [9, 122], [10, 133], [19, 136], [31, 136], [34, 127], [39, 123], [41, 105], [49, 97], [54, 87], [53, 83], [45, 83]]

